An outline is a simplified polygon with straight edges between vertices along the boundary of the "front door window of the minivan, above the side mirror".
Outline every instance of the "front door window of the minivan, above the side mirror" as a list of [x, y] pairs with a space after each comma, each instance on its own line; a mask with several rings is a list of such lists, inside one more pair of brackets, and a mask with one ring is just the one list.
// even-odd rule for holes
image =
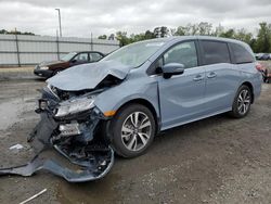
[[194, 41], [179, 43], [164, 54], [164, 64], [180, 63], [185, 68], [197, 66], [197, 54]]

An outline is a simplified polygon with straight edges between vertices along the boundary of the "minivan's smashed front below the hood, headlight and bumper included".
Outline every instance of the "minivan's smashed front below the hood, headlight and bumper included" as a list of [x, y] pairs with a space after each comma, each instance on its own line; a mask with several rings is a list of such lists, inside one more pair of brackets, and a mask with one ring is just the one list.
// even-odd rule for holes
[[[107, 118], [94, 106], [94, 91], [62, 91], [48, 86], [39, 100], [40, 122], [28, 138], [36, 156], [26, 165], [0, 169], [0, 175], [31, 176], [49, 170], [69, 182], [104, 177], [113, 166], [114, 152], [101, 133]], [[78, 168], [73, 170], [40, 153], [53, 148]]]

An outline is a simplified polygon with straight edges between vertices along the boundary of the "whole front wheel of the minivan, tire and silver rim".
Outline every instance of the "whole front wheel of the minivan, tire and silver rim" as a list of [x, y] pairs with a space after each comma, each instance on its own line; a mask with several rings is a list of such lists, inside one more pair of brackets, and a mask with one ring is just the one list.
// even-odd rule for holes
[[111, 123], [112, 145], [127, 158], [140, 156], [153, 142], [156, 124], [152, 112], [141, 104], [121, 107]]

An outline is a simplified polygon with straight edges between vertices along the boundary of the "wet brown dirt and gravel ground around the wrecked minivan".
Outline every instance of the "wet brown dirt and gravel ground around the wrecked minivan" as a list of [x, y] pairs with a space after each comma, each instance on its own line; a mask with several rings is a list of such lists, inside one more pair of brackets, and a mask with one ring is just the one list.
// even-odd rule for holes
[[[0, 81], [0, 167], [34, 155], [26, 142], [42, 80]], [[11, 151], [21, 143], [24, 149]], [[243, 119], [218, 115], [158, 136], [150, 151], [116, 158], [103, 179], [68, 183], [47, 171], [0, 177], [0, 203], [271, 203], [271, 85]]]

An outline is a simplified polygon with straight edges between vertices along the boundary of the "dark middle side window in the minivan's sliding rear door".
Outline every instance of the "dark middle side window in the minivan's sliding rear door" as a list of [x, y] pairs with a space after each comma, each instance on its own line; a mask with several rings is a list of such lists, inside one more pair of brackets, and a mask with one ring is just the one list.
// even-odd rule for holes
[[231, 63], [229, 49], [225, 42], [202, 41], [204, 64]]

